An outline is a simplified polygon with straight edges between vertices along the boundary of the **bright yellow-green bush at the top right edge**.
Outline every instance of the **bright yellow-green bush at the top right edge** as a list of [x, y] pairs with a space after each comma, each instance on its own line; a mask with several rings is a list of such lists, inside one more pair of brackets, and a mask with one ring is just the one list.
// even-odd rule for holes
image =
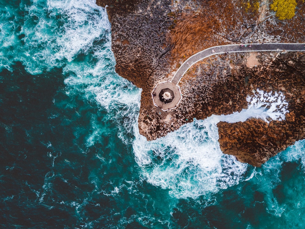
[[279, 20], [291, 19], [295, 14], [296, 0], [273, 0], [270, 9], [276, 12]]

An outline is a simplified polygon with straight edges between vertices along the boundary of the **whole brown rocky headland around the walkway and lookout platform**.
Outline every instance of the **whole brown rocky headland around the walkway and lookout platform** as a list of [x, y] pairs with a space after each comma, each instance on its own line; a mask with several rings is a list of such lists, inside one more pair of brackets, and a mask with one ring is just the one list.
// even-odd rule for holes
[[[305, 4], [295, 16], [278, 20], [271, 2], [97, 0], [107, 6], [117, 73], [142, 88], [139, 131], [154, 140], [213, 114], [248, 107], [259, 89], [281, 92], [288, 103], [284, 120], [250, 118], [217, 124], [221, 150], [260, 166], [305, 135], [305, 55], [259, 52], [215, 55], [195, 64], [180, 81], [179, 106], [159, 116], [151, 92], [171, 80], [191, 55], [214, 45], [305, 42]], [[233, 13], [234, 12], [234, 13]]]

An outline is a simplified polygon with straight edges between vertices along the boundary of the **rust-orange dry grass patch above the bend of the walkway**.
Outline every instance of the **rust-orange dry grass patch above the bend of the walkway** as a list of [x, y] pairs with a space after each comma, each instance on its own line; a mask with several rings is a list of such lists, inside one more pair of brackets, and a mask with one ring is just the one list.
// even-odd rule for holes
[[201, 13], [176, 17], [169, 36], [173, 44], [173, 60], [181, 60], [213, 45], [239, 42], [246, 30], [242, 27], [244, 21], [255, 24], [258, 18], [257, 11], [246, 12], [244, 1], [234, 4], [230, 1], [203, 1]]

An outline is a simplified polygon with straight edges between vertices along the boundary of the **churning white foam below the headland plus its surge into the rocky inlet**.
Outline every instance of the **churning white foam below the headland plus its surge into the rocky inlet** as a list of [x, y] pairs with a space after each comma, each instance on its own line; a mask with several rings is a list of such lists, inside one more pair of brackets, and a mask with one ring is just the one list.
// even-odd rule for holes
[[[167, 136], [148, 142], [135, 133], [135, 159], [143, 169], [146, 180], [178, 198], [197, 198], [236, 185], [245, 177], [247, 164], [223, 154], [218, 143], [217, 123], [244, 122], [248, 118], [283, 120], [287, 102], [282, 93], [261, 90], [248, 96], [248, 109], [230, 115], [212, 115], [205, 120], [194, 120]], [[137, 126], [134, 127], [136, 129]]]

